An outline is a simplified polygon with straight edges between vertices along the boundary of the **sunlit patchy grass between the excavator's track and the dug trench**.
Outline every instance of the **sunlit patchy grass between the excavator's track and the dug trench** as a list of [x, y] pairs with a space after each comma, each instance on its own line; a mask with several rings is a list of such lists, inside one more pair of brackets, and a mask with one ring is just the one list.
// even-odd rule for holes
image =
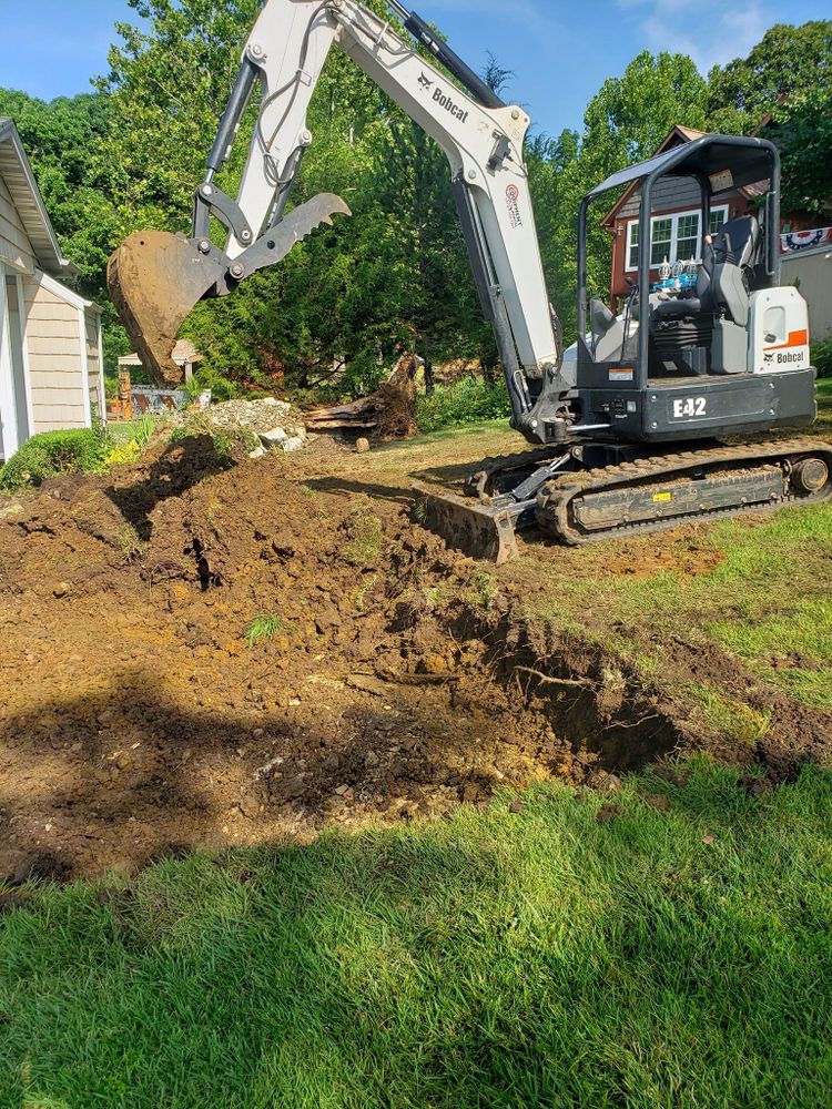
[[[686, 552], [688, 539], [680, 540]], [[639, 662], [649, 648], [661, 680], [661, 644], [682, 637], [691, 649], [717, 643], [749, 663], [763, 681], [816, 708], [832, 708], [832, 603], [829, 550], [832, 508], [792, 508], [760, 523], [712, 526], [699, 543], [721, 562], [688, 577], [660, 570], [648, 577], [606, 571], [616, 545], [575, 557], [580, 573], [561, 573], [531, 607], [556, 627]], [[650, 540], [632, 542], [630, 557], [649, 558]], [[658, 643], [658, 645], [657, 645]], [[782, 665], [784, 655], [792, 665]]]

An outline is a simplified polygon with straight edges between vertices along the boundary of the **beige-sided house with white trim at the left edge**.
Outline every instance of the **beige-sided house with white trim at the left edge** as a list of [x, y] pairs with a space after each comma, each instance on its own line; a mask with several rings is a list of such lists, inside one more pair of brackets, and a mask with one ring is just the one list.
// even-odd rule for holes
[[39, 431], [104, 418], [101, 309], [58, 279], [75, 273], [0, 119], [0, 460]]

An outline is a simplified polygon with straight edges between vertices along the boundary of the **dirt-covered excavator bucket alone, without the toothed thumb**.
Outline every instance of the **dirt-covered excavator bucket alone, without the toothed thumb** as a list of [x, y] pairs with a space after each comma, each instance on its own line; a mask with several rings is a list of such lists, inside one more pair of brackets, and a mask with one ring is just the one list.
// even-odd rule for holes
[[171, 357], [179, 329], [222, 275], [214, 258], [165, 231], [139, 231], [110, 258], [110, 296], [155, 385], [174, 388], [182, 381], [182, 368]]

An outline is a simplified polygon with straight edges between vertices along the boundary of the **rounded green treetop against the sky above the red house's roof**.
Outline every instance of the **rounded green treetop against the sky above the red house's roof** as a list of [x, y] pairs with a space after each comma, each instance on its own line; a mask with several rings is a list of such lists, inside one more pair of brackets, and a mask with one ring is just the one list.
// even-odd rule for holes
[[832, 21], [801, 27], [778, 23], [748, 58], [737, 58], [710, 73], [710, 130], [750, 134], [767, 112], [794, 94], [819, 95], [832, 88]]

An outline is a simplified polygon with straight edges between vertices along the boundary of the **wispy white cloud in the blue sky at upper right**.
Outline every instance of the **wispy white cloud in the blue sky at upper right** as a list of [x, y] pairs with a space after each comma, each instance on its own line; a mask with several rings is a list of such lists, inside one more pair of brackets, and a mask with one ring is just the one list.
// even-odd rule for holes
[[643, 9], [641, 30], [650, 50], [690, 54], [702, 73], [744, 58], [775, 22], [759, 0], [735, 8], [701, 0], [694, 10], [678, 0], [618, 0], [618, 6], [631, 14]]

